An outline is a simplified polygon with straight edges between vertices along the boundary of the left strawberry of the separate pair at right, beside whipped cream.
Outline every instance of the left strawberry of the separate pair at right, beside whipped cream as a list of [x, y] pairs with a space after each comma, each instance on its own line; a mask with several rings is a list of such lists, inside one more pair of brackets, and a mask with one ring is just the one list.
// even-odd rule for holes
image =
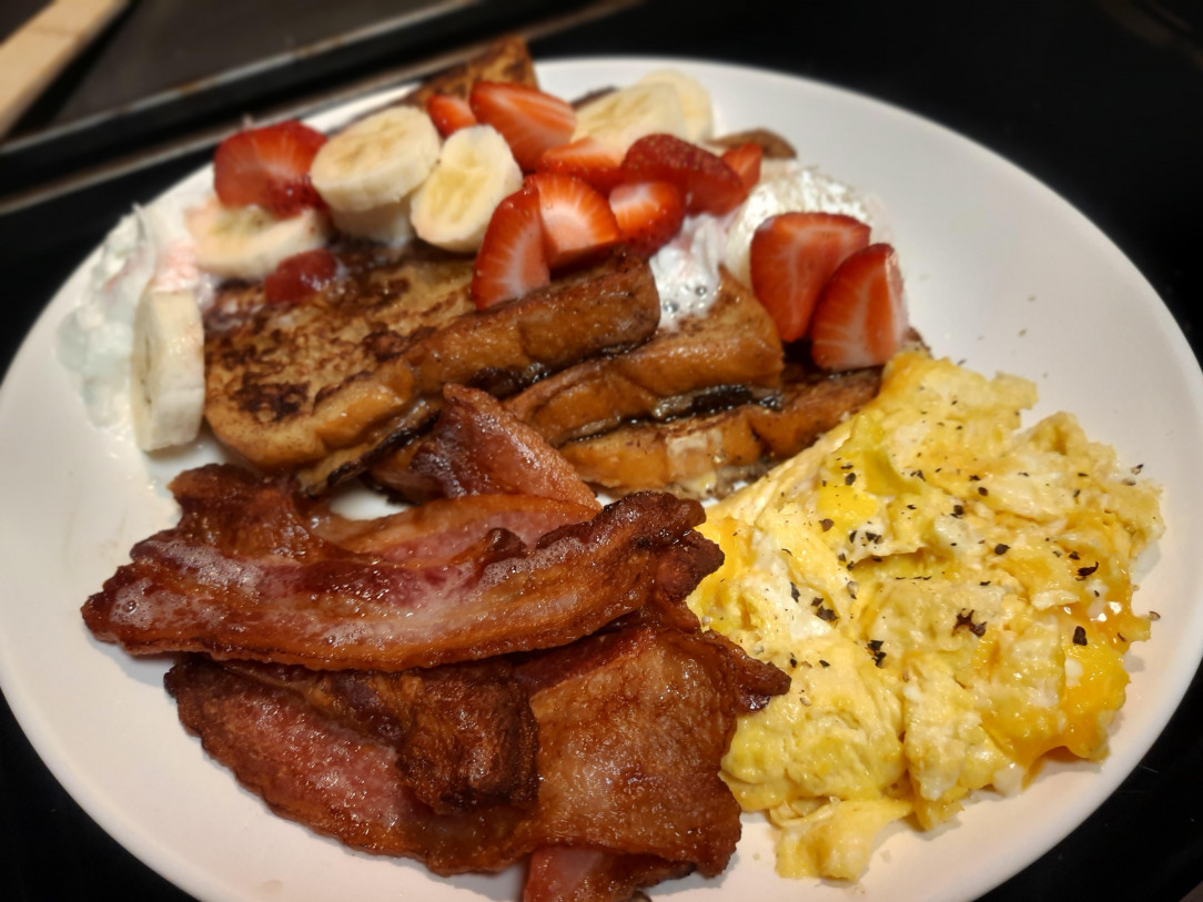
[[869, 247], [869, 226], [832, 213], [782, 213], [752, 236], [752, 291], [783, 342], [806, 334], [819, 292], [852, 254]]

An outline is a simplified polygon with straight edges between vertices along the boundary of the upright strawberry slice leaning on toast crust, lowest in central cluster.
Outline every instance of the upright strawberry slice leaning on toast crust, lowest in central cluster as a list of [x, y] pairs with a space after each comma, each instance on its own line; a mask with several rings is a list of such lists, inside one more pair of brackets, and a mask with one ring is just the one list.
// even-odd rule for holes
[[472, 275], [472, 298], [484, 310], [550, 281], [539, 190], [523, 185], [498, 203], [488, 220]]

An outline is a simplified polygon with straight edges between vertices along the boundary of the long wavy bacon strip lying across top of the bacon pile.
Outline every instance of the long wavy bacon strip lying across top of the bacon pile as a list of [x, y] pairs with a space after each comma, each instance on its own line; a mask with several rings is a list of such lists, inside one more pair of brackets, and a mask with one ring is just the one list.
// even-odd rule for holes
[[[437, 563], [349, 551], [292, 494], [230, 465], [180, 474], [178, 526], [138, 542], [83, 606], [101, 640], [319, 670], [398, 671], [563, 645], [636, 610], [700, 505], [633, 495], [534, 546], [494, 530]], [[688, 553], [686, 554], [688, 557]]]

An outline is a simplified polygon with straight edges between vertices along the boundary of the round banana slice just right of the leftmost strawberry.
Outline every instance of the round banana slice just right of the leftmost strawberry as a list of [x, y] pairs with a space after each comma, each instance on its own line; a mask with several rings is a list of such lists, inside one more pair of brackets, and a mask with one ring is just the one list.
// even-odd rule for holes
[[396, 203], [439, 159], [439, 132], [425, 111], [390, 107], [330, 138], [309, 178], [331, 209], [355, 212]]

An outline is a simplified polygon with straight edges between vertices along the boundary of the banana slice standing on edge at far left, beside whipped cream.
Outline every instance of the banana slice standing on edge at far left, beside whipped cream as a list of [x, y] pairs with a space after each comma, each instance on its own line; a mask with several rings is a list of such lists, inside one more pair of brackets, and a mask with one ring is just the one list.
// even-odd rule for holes
[[143, 451], [196, 438], [205, 414], [205, 328], [190, 291], [149, 287], [134, 311], [130, 413]]

